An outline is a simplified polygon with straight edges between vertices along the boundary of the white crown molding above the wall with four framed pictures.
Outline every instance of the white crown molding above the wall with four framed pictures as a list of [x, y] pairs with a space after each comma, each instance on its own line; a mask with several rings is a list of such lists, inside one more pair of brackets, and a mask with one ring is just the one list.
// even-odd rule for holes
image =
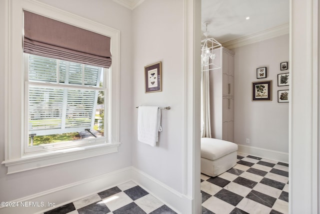
[[249, 36], [241, 37], [235, 40], [222, 43], [222, 46], [227, 49], [234, 49], [244, 45], [260, 42], [263, 40], [272, 39], [274, 37], [289, 34], [289, 23], [271, 28], [265, 31], [261, 31]]

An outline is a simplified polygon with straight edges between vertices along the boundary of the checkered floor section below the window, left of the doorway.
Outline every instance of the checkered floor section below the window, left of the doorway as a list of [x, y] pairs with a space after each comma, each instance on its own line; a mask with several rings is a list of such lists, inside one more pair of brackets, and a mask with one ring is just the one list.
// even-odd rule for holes
[[129, 181], [44, 213], [173, 214], [176, 212], [133, 181]]

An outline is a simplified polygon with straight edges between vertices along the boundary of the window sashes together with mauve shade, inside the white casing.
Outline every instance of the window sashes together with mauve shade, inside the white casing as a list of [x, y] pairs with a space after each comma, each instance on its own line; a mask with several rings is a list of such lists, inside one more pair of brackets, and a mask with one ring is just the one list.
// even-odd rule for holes
[[110, 38], [24, 11], [23, 43], [24, 152], [103, 139]]

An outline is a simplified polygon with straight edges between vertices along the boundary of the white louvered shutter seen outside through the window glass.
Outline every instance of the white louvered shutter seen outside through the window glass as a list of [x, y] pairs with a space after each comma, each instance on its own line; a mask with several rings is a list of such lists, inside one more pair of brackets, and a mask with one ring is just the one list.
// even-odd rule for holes
[[29, 55], [28, 72], [29, 134], [61, 134], [92, 128], [97, 90], [91, 87], [86, 90], [63, 89], [32, 85], [32, 83], [98, 87], [101, 68]]

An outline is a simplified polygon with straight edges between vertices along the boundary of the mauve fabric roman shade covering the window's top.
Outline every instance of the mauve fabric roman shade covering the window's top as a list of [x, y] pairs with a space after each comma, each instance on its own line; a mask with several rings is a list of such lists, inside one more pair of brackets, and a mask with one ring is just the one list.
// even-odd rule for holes
[[23, 11], [23, 52], [109, 68], [110, 38]]

